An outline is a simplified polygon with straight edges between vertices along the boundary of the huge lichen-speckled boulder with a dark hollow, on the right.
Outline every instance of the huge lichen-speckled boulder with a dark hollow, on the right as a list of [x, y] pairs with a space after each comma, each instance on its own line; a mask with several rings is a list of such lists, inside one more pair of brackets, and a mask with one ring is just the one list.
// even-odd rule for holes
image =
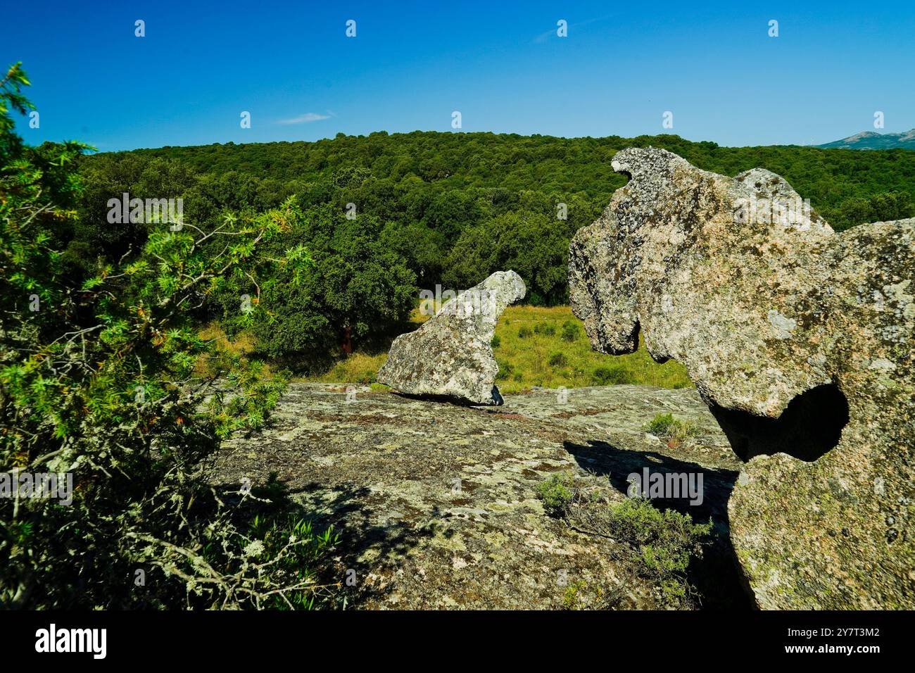
[[760, 168], [613, 166], [630, 182], [572, 242], [573, 309], [598, 351], [641, 330], [682, 362], [748, 461], [728, 508], [759, 605], [915, 607], [915, 220], [838, 234], [772, 216], [800, 197]]

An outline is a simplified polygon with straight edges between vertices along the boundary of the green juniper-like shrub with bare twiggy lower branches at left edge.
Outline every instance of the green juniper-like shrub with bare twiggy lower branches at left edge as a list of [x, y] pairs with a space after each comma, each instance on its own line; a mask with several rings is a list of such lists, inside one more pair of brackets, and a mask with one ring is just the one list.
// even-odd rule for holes
[[[27, 83], [16, 65], [0, 85], [0, 472], [67, 474], [73, 489], [69, 505], [0, 498], [0, 607], [314, 605], [303, 578], [335, 537], [297, 519], [249, 526], [256, 496], [212, 485], [213, 451], [264, 424], [285, 377], [265, 380], [260, 364], [201, 340], [194, 310], [211, 292], [255, 296], [250, 279], [280, 265], [307, 273], [304, 248], [264, 255], [290, 206], [212, 227], [149, 223], [132, 255], [74, 278], [61, 233], [86, 147], [16, 136], [9, 111], [30, 107]], [[257, 302], [250, 318], [265, 320]]]

